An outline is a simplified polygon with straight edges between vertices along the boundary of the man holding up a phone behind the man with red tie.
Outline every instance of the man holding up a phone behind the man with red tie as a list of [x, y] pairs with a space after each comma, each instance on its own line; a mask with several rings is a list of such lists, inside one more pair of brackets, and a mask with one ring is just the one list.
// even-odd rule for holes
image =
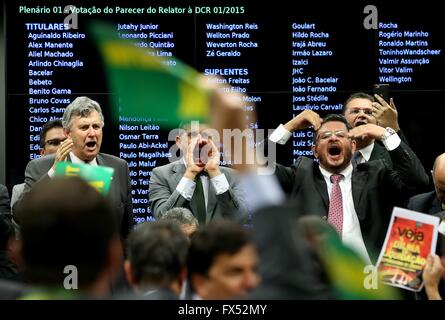
[[[400, 130], [397, 109], [392, 98], [388, 104], [378, 95], [373, 97], [364, 92], [353, 93], [344, 104], [343, 114], [352, 128], [368, 123], [377, 124], [383, 128], [391, 128], [405, 144], [408, 144]], [[380, 141], [372, 137], [356, 141], [356, 156], [353, 158], [353, 163], [379, 159], [385, 160], [393, 167], [391, 156]]]

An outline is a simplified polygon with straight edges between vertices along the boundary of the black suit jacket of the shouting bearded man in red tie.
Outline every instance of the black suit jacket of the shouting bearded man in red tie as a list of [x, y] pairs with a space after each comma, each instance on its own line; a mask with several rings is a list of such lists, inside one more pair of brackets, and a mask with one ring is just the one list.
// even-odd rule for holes
[[[371, 259], [381, 249], [394, 205], [428, 184], [422, 164], [405, 143], [389, 154], [394, 170], [383, 160], [376, 160], [357, 165], [352, 173], [354, 208]], [[277, 165], [275, 174], [295, 201], [298, 214], [327, 219], [329, 196], [317, 162], [300, 157], [290, 167]]]

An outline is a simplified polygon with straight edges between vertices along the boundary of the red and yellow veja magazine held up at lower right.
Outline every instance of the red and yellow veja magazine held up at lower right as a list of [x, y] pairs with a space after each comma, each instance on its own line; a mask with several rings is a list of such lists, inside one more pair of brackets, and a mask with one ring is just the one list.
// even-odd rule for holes
[[377, 261], [382, 282], [411, 291], [423, 287], [422, 270], [434, 254], [440, 219], [394, 207], [385, 243]]

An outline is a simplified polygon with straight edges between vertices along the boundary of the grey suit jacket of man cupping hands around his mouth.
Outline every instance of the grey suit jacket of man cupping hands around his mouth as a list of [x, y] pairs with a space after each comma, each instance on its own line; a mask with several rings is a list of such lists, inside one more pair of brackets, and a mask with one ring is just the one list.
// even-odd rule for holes
[[[176, 186], [185, 173], [185, 165], [178, 160], [153, 169], [150, 179], [150, 208], [152, 214], [159, 218], [167, 210], [174, 207], [184, 207], [196, 212], [196, 204], [187, 201], [177, 190]], [[242, 196], [242, 190], [237, 182], [236, 173], [230, 168], [220, 167], [229, 182], [229, 190], [216, 195], [216, 191], [209, 181], [206, 222], [214, 218], [229, 218], [239, 221], [247, 219], [247, 208]]]

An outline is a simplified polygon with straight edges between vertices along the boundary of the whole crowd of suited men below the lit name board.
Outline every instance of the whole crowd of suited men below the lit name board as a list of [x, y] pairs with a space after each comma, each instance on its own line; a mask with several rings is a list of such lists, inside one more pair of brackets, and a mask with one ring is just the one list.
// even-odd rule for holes
[[[445, 213], [445, 154], [428, 190], [392, 99], [355, 93], [341, 115], [305, 110], [280, 124], [264, 145], [312, 128], [316, 161], [273, 175], [221, 166], [208, 128], [182, 126], [182, 157], [150, 178], [155, 220], [136, 226], [128, 165], [100, 152], [104, 124], [98, 102], [75, 99], [43, 127], [42, 156], [11, 201], [0, 186], [0, 299], [441, 299], [440, 243], [420, 293], [342, 285], [375, 265], [395, 206]], [[113, 167], [109, 194], [56, 176], [61, 161]]]

